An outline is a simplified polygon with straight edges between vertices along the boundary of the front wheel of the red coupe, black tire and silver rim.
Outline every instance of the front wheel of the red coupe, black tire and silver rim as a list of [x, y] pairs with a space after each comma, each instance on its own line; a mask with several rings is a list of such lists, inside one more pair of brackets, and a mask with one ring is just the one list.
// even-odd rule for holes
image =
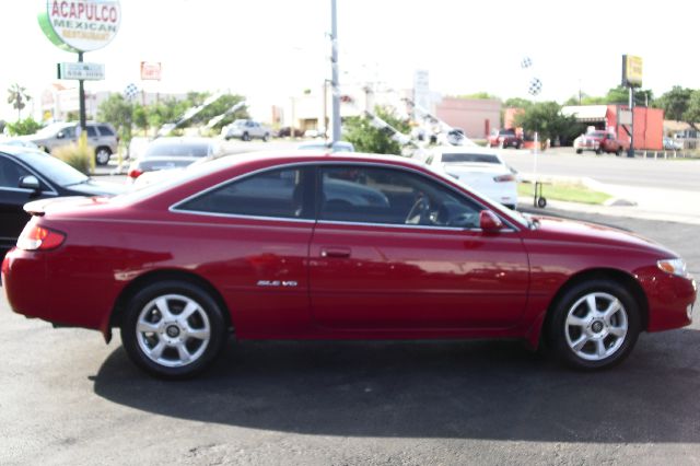
[[[614, 300], [620, 308], [607, 317], [609, 322], [597, 314], [593, 316], [590, 296], [594, 296], [597, 313], [606, 303], [608, 308], [614, 308]], [[547, 336], [553, 356], [579, 370], [600, 370], [619, 364], [634, 348], [641, 328], [639, 304], [625, 287], [612, 280], [590, 280], [572, 287], [553, 303], [550, 312]], [[611, 331], [620, 331], [622, 327], [623, 336]], [[603, 354], [599, 354], [600, 346]]]

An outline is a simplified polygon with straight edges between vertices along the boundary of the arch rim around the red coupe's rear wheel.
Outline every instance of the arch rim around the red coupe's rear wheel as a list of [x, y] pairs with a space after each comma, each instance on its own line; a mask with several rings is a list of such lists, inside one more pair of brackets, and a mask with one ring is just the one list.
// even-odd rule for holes
[[231, 312], [229, 310], [229, 306], [226, 306], [226, 302], [224, 301], [219, 290], [213, 284], [211, 284], [209, 280], [197, 273], [192, 273], [186, 270], [161, 269], [152, 270], [137, 277], [136, 279], [130, 281], [129, 284], [124, 288], [124, 290], [121, 290], [121, 292], [117, 296], [117, 300], [115, 301], [114, 307], [112, 308], [106, 328], [104, 328], [105, 339], [107, 341], [109, 341], [109, 339], [112, 338], [112, 328], [121, 325], [121, 318], [124, 316], [124, 312], [126, 311], [126, 306], [129, 303], [129, 300], [131, 300], [131, 298], [133, 298], [133, 295], [136, 295], [136, 293], [138, 293], [139, 290], [141, 290], [143, 287], [164, 280], [186, 281], [205, 289], [208, 293], [211, 294], [211, 298], [221, 307], [226, 328], [229, 328], [230, 331], [233, 329], [233, 322], [231, 319]]

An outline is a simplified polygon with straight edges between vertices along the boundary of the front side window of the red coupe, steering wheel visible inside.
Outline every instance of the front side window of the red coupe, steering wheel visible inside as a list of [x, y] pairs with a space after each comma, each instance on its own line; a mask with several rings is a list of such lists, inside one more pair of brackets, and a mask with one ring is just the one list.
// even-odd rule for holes
[[400, 168], [322, 167], [319, 220], [478, 228], [480, 208], [425, 176]]

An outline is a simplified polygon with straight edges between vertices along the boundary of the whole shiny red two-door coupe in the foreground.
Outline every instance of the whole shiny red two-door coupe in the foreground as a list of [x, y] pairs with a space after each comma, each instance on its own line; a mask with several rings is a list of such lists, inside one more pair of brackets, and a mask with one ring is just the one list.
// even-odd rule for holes
[[250, 154], [114, 198], [25, 206], [12, 308], [119, 327], [165, 377], [238, 339], [516, 338], [581, 369], [690, 324], [697, 288], [651, 241], [523, 217], [398, 156]]

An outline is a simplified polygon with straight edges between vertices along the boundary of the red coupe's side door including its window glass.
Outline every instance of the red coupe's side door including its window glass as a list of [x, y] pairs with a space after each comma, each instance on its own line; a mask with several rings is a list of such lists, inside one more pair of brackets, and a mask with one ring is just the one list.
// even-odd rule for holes
[[319, 167], [310, 247], [317, 325], [338, 330], [504, 328], [524, 311], [518, 231], [479, 230], [482, 207], [409, 168]]

